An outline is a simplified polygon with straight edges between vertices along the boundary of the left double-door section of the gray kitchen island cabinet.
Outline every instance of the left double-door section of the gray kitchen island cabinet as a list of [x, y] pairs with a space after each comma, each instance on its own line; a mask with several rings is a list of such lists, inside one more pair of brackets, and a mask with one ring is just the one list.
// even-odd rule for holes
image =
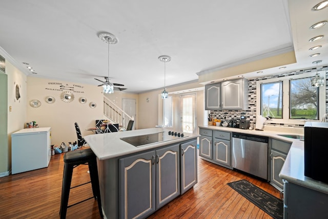
[[179, 148], [173, 145], [120, 159], [123, 218], [150, 215], [180, 194]]

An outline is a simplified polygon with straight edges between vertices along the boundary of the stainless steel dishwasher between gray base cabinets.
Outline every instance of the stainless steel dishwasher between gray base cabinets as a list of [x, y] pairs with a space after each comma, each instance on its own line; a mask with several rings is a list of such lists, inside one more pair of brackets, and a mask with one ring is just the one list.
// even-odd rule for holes
[[232, 167], [268, 180], [269, 137], [232, 133]]

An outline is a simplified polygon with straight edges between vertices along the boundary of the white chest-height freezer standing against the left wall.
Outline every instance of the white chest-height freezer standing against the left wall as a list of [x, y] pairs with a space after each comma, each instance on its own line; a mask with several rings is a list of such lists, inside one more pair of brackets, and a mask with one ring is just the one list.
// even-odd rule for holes
[[27, 128], [11, 134], [11, 173], [48, 167], [51, 128]]

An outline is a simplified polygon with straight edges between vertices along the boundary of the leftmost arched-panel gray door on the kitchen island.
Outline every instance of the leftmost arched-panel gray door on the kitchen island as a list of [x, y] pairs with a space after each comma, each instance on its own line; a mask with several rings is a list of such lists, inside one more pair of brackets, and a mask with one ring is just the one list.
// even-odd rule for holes
[[120, 217], [145, 217], [155, 211], [155, 151], [119, 160]]

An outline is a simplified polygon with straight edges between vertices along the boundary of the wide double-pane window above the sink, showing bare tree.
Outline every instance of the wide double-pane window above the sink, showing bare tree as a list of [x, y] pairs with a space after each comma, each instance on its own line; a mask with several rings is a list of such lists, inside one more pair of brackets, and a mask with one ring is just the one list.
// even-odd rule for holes
[[[325, 86], [313, 87], [317, 72], [257, 81], [256, 114], [273, 117], [272, 123], [303, 124], [325, 113]], [[325, 71], [318, 71], [325, 78]], [[324, 80], [325, 81], [325, 80]]]

